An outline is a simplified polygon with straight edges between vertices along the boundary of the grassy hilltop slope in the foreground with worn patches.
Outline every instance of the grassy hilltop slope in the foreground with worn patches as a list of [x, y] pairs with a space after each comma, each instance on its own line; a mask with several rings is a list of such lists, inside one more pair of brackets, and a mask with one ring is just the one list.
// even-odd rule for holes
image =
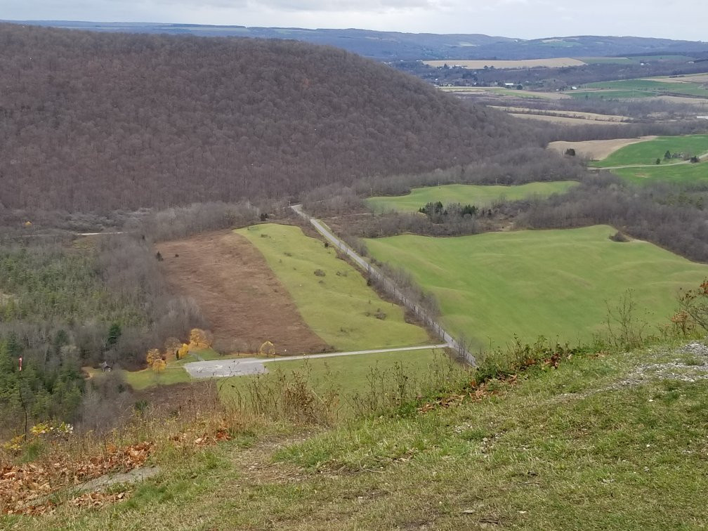
[[707, 355], [676, 346], [539, 363], [477, 398], [335, 428], [244, 432], [182, 455], [164, 447], [152, 458], [159, 476], [113, 487], [128, 501], [0, 517], [0, 527], [702, 528], [707, 374]]

